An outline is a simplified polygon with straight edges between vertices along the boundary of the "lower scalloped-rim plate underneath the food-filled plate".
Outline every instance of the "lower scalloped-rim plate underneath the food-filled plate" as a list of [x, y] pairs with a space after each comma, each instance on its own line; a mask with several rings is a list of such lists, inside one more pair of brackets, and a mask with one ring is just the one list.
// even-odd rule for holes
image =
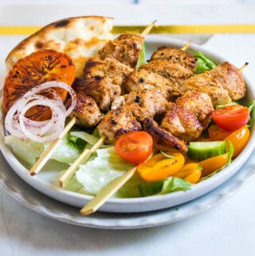
[[166, 210], [128, 215], [97, 212], [94, 215], [81, 216], [78, 208], [59, 203], [28, 186], [27, 183], [12, 171], [11, 167], [2, 157], [2, 154], [0, 154], [0, 167], [0, 187], [7, 191], [14, 199], [18, 200], [18, 202], [41, 215], [77, 226], [104, 229], [137, 229], [176, 223], [182, 219], [198, 215], [202, 211], [209, 210], [211, 207], [215, 207], [223, 199], [233, 195], [238, 188], [244, 185], [245, 181], [254, 175], [255, 153], [245, 163], [244, 167], [237, 171], [236, 175], [233, 175], [222, 186], [198, 199]]

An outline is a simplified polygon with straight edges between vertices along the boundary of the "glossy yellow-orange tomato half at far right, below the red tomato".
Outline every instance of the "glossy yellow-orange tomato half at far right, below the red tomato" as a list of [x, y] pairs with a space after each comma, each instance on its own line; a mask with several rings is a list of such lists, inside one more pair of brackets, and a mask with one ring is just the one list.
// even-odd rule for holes
[[225, 140], [230, 140], [233, 144], [233, 157], [239, 155], [243, 148], [245, 148], [245, 145], [249, 141], [249, 135], [249, 128], [246, 125], [244, 125], [238, 130], [230, 133], [230, 135], [226, 137]]

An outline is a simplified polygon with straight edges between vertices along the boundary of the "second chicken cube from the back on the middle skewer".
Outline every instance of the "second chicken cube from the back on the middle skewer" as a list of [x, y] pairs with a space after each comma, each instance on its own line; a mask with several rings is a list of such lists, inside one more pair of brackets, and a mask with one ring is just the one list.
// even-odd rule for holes
[[183, 81], [194, 75], [193, 69], [187, 68], [178, 62], [168, 61], [167, 59], [152, 60], [141, 65], [140, 69], [146, 69], [166, 77], [175, 85], [175, 88], [178, 88], [179, 85], [182, 85]]

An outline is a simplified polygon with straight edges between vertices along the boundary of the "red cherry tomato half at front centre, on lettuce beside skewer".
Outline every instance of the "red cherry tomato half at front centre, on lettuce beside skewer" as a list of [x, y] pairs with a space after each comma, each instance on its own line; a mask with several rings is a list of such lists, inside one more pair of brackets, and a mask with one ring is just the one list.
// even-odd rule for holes
[[116, 152], [129, 163], [143, 163], [151, 155], [153, 140], [143, 131], [128, 132], [115, 144]]

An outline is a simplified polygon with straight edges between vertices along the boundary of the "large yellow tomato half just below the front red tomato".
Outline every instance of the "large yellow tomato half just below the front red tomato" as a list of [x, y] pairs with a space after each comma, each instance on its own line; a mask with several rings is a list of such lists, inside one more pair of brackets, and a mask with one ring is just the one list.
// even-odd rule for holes
[[152, 156], [145, 163], [140, 163], [137, 167], [140, 177], [151, 182], [174, 175], [182, 168], [185, 158], [181, 153], [172, 153], [171, 156], [173, 157], [167, 158], [160, 153]]

